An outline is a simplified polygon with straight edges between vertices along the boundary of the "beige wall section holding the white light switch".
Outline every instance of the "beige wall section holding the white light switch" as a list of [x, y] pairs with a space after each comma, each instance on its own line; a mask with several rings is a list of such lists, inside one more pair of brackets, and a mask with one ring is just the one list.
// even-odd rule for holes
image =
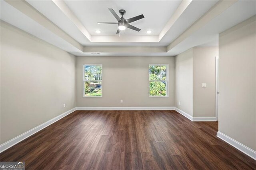
[[[193, 48], [193, 116], [215, 117], [215, 57], [218, 47]], [[207, 87], [202, 88], [202, 83]]]

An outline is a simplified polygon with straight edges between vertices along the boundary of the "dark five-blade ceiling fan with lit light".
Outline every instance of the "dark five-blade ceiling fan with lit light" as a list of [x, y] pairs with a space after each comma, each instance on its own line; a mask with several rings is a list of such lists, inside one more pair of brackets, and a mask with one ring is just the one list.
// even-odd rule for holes
[[116, 18], [116, 20], [118, 22], [98, 22], [98, 24], [117, 24], [118, 29], [117, 29], [116, 34], [119, 34], [121, 30], [125, 30], [126, 28], [130, 28], [130, 29], [138, 31], [138, 32], [141, 30], [140, 28], [130, 25], [130, 23], [144, 18], [143, 14], [129, 18], [126, 20], [123, 17], [124, 14], [126, 13], [125, 10], [119, 10], [120, 15], [122, 16], [121, 18], [119, 18], [119, 16], [116, 14], [116, 12], [112, 8], [108, 8], [108, 10], [114, 15], [114, 17]]

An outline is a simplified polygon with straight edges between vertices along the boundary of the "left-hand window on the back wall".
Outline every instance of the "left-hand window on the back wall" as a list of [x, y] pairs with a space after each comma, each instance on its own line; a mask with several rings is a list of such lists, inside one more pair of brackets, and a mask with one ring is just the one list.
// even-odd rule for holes
[[83, 97], [102, 97], [102, 64], [83, 65]]

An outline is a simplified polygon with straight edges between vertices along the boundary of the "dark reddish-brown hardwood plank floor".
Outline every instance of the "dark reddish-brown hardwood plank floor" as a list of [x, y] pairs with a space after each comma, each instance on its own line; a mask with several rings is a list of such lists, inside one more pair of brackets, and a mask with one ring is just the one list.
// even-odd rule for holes
[[25, 161], [26, 170], [255, 170], [217, 130], [172, 110], [75, 111], [0, 160]]

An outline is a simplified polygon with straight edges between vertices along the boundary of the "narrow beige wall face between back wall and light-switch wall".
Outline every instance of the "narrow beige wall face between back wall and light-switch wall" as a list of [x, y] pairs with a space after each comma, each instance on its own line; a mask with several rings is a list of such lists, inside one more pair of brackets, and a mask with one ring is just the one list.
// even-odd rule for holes
[[182, 52], [175, 58], [175, 106], [193, 116], [193, 49]]

